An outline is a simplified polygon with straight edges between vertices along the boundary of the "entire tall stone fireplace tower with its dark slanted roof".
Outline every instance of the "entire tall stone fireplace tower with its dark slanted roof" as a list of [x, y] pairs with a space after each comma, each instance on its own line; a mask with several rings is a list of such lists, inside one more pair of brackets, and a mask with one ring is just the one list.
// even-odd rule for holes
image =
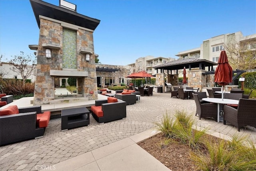
[[40, 29], [38, 45], [29, 45], [37, 54], [34, 105], [54, 100], [59, 78], [76, 78], [78, 95], [98, 99], [93, 32], [100, 20], [78, 14], [76, 5], [64, 0], [60, 6], [30, 3]]

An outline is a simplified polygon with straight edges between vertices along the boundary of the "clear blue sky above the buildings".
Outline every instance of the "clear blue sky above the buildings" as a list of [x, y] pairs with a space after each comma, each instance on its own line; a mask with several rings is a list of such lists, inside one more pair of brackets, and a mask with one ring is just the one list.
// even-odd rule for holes
[[[57, 5], [59, 0], [44, 0]], [[96, 18], [94, 51], [102, 64], [127, 65], [145, 56], [172, 57], [203, 40], [241, 31], [256, 34], [256, 0], [67, 0]], [[0, 54], [34, 53], [39, 28], [29, 0], [0, 0]], [[7, 62], [6, 60], [4, 62]]]

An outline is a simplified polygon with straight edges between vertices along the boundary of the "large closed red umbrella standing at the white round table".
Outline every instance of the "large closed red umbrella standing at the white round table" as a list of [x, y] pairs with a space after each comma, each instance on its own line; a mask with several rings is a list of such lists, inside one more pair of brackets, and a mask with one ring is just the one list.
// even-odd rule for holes
[[228, 57], [226, 51], [223, 49], [220, 52], [220, 58], [218, 60], [218, 66], [214, 73], [214, 82], [222, 85], [222, 100], [223, 100], [223, 87], [232, 82], [232, 67], [228, 64]]

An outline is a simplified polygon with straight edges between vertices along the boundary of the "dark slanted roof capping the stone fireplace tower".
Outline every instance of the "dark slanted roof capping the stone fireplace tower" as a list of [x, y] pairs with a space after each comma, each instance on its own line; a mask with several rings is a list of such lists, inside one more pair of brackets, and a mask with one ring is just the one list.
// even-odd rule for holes
[[71, 11], [60, 6], [55, 6], [42, 0], [30, 0], [30, 4], [32, 6], [39, 28], [39, 15], [74, 24], [76, 26], [88, 28], [90, 30], [95, 30], [96, 27], [100, 24], [100, 20], [98, 19], [78, 14], [75, 11]]

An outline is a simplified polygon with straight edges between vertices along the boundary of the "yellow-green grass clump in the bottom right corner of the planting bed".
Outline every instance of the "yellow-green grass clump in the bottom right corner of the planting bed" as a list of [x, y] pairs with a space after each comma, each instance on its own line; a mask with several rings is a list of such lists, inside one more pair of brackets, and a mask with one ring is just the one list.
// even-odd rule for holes
[[205, 141], [208, 153], [192, 153], [198, 170], [251, 171], [256, 170], [256, 150], [248, 136], [232, 136], [231, 141]]

